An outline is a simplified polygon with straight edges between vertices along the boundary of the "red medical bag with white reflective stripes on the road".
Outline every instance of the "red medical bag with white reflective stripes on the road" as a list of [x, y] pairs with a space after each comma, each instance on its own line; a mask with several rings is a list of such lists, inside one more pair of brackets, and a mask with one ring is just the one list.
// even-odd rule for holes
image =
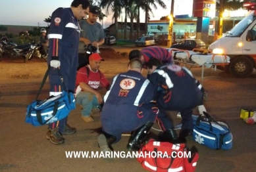
[[172, 144], [150, 139], [138, 152], [137, 160], [144, 169], [157, 172], [195, 171], [199, 155], [188, 151], [185, 143]]

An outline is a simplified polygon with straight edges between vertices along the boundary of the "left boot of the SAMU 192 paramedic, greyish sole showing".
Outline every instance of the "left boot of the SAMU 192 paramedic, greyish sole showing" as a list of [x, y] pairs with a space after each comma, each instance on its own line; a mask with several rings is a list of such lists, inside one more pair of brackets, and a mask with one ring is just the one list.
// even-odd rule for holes
[[113, 135], [109, 135], [105, 132], [98, 136], [98, 144], [101, 152], [111, 152], [113, 150], [111, 144], [115, 142], [116, 137]]

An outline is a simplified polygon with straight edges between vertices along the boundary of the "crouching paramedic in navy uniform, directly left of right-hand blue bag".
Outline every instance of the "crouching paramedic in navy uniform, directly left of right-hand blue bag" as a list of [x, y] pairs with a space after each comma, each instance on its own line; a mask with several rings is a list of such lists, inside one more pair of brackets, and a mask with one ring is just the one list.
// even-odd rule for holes
[[[162, 64], [152, 59], [147, 63], [149, 80], [155, 87], [154, 99], [159, 110], [178, 110], [182, 116], [182, 129], [179, 138], [191, 137], [193, 132], [192, 111], [203, 99], [203, 89], [196, 83], [192, 72], [176, 64]], [[172, 137], [170, 137], [170, 133]], [[176, 140], [178, 137], [171, 126], [159, 135], [163, 141]], [[190, 138], [192, 139], [192, 138]]]

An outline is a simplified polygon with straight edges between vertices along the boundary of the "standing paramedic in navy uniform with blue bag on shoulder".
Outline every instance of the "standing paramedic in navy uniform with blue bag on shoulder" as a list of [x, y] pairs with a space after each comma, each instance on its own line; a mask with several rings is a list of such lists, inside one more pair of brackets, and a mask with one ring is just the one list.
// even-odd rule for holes
[[[88, 0], [74, 0], [70, 8], [59, 8], [51, 15], [47, 59], [48, 65], [51, 66], [49, 71], [50, 96], [61, 94], [63, 89], [74, 93], [80, 37], [78, 20], [87, 16], [89, 8]], [[65, 88], [61, 81], [64, 81]], [[67, 125], [66, 120], [67, 118], [64, 118], [49, 125], [46, 138], [53, 144], [63, 144], [63, 135], [76, 133], [76, 128]]]

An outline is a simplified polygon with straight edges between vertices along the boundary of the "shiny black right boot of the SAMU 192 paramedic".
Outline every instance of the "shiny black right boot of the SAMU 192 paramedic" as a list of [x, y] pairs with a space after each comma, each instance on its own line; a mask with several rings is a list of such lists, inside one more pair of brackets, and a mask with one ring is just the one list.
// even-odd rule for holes
[[147, 121], [147, 123], [132, 133], [127, 144], [128, 150], [140, 150], [141, 144], [145, 142], [147, 133], [149, 133], [153, 124], [153, 122]]

